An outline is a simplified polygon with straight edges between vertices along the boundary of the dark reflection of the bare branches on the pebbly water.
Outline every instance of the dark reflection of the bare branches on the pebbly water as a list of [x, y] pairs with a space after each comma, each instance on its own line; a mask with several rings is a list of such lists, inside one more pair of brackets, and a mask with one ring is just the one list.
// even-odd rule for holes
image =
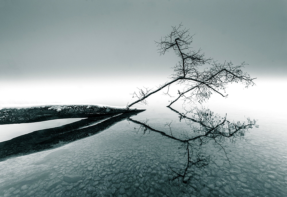
[[[185, 168], [180, 169], [179, 171], [174, 170], [170, 167], [170, 181], [177, 182], [177, 185], [180, 186], [181, 182], [189, 185], [189, 181], [193, 177], [193, 173], [196, 168], [202, 168], [208, 166], [210, 161], [210, 156], [204, 156], [202, 145], [212, 142], [214, 146], [218, 145], [223, 149], [226, 159], [230, 163], [224, 142], [226, 139], [230, 139], [231, 143], [235, 141], [236, 138], [242, 138], [245, 135], [245, 132], [248, 128], [252, 128], [252, 125], [255, 124], [255, 120], [251, 121], [249, 118], [247, 122], [230, 122], [226, 120], [226, 116], [220, 117], [218, 114], [214, 114], [209, 109], [199, 109], [195, 108], [195, 113], [193, 116], [188, 117], [186, 113], [179, 113], [178, 111], [169, 107], [172, 111], [179, 114], [179, 120], [182, 121], [185, 119], [187, 124], [191, 127], [191, 131], [186, 133], [177, 133], [172, 131], [171, 124], [166, 123], [165, 126], [169, 127], [169, 132], [158, 131], [150, 127], [145, 121], [135, 121], [129, 118], [129, 121], [139, 124], [139, 128], [135, 128], [137, 133], [141, 130], [145, 134], [147, 131], [154, 131], [160, 133], [161, 135], [168, 137], [177, 141], [181, 147], [185, 149], [185, 156], [187, 155]], [[195, 126], [193, 126], [195, 125]], [[144, 135], [143, 134], [143, 135]]]

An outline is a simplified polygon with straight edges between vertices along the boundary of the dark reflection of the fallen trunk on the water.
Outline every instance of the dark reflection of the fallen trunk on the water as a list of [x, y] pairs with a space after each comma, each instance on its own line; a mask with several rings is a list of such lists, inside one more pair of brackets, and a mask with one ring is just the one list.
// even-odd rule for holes
[[[94, 135], [137, 113], [139, 112], [119, 114], [115, 117], [106, 115], [103, 117], [87, 118], [61, 127], [43, 129], [15, 137], [0, 143], [0, 161], [12, 156], [27, 155], [29, 153], [53, 149]], [[102, 122], [93, 125], [99, 121]]]

